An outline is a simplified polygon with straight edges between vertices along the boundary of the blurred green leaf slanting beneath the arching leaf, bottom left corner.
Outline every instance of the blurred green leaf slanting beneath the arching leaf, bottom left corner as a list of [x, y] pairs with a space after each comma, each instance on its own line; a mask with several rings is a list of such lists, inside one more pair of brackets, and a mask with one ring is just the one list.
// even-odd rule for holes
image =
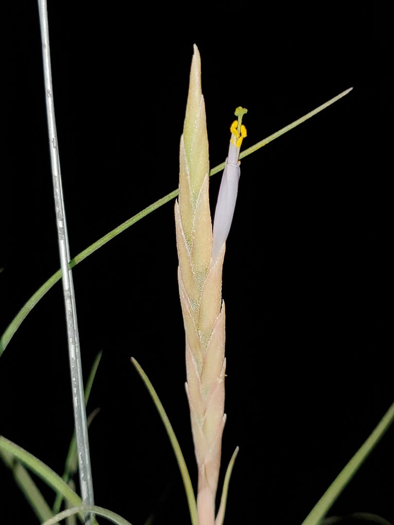
[[39, 491], [32, 476], [28, 473], [23, 465], [14, 456], [0, 449], [0, 457], [9, 469], [12, 470], [15, 482], [23, 492], [25, 498], [32, 507], [34, 513], [40, 521], [47, 520], [53, 516], [48, 503], [45, 501], [42, 493]]

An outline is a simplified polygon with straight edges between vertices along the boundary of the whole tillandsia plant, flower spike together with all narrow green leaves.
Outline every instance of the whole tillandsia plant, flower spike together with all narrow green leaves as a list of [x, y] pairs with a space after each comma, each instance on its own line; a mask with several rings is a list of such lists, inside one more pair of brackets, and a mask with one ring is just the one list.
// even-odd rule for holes
[[[46, 4], [44, 0], [42, 1], [43, 4]], [[293, 129], [296, 125], [314, 116], [319, 111], [322, 111], [346, 95], [350, 89], [340, 93], [337, 97], [292, 122], [285, 128], [269, 135], [269, 137], [242, 153], [240, 153], [240, 148], [243, 139], [246, 137], [246, 128], [242, 123], [242, 117], [246, 110], [237, 108], [235, 111], [237, 119], [234, 120], [230, 127], [231, 139], [227, 160], [225, 163], [210, 170], [204, 98], [201, 91], [200, 55], [198, 49], [194, 47], [189, 97], [180, 147], [179, 202], [175, 203], [175, 221], [179, 255], [179, 291], [186, 335], [186, 394], [190, 406], [192, 434], [198, 465], [197, 501], [194, 498], [192, 484], [177, 438], [174, 435], [167, 415], [165, 415], [164, 408], [146, 374], [144, 374], [139, 364], [133, 360], [134, 365], [136, 365], [138, 372], [149, 388], [155, 405], [159, 409], [177, 456], [186, 488], [193, 525], [222, 524], [226, 506], [227, 487], [237, 452], [236, 449], [227, 468], [223, 482], [221, 503], [216, 513], [215, 500], [221, 464], [222, 435], [225, 424], [224, 378], [226, 360], [224, 355], [225, 308], [221, 296], [222, 266], [225, 242], [232, 222], [240, 177], [239, 159], [256, 151], [283, 133]], [[47, 92], [47, 95], [51, 95], [51, 92]], [[209, 176], [223, 169], [224, 173], [212, 227], [209, 206]], [[113, 237], [177, 195], [178, 190], [175, 190], [143, 209], [140, 213], [134, 215], [82, 251], [75, 258], [69, 260], [67, 254], [66, 271], [67, 264], [69, 269], [76, 266]], [[67, 232], [65, 235], [67, 236]], [[27, 314], [51, 286], [61, 278], [61, 275], [62, 271], [59, 270], [50, 277], [12, 320], [0, 339], [0, 355], [4, 352]], [[89, 396], [92, 377], [94, 377], [97, 369], [98, 360], [86, 387], [85, 402]], [[323, 497], [320, 498], [304, 520], [303, 525], [324, 523], [322, 519], [330, 506], [333, 505], [339, 493], [347, 485], [393, 419], [394, 405], [389, 408], [374, 432], [371, 433], [366, 442], [330, 485]], [[79, 447], [79, 445], [77, 446]], [[118, 525], [130, 525], [125, 518], [118, 514], [108, 509], [89, 505], [86, 499], [82, 501], [75, 490], [69, 486], [69, 478], [76, 470], [76, 458], [80, 456], [80, 450], [78, 450], [78, 453], [76, 450], [77, 446], [70, 446], [69, 458], [62, 479], [32, 454], [0, 436], [0, 455], [4, 463], [12, 469], [17, 484], [24, 491], [40, 522], [45, 521], [47, 525], [51, 525], [76, 513], [79, 514], [80, 520], [84, 521], [90, 519], [87, 513], [91, 512], [95, 516], [106, 517]], [[36, 487], [33, 478], [30, 478], [27, 474], [25, 466], [42, 477], [46, 484], [55, 490], [57, 498], [53, 506], [50, 507], [47, 504]], [[65, 501], [66, 505], [72, 506], [72, 508], [59, 513], [62, 501]], [[371, 514], [368, 514], [367, 518], [369, 521], [371, 521], [370, 517]], [[92, 523], [95, 523], [94, 516], [91, 517], [91, 520]], [[330, 518], [329, 520], [326, 522], [327, 525], [329, 523], [339, 523], [339, 519], [336, 518], [334, 520]], [[148, 519], [148, 522], [150, 523], [151, 520]]]

